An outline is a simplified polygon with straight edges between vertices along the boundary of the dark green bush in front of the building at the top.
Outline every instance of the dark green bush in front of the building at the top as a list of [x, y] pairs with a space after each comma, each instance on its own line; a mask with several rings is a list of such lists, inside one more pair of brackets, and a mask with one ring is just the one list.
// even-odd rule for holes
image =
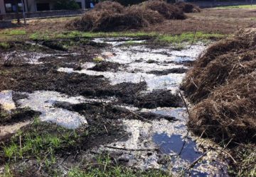
[[57, 0], [54, 4], [55, 10], [78, 10], [79, 8], [75, 0]]

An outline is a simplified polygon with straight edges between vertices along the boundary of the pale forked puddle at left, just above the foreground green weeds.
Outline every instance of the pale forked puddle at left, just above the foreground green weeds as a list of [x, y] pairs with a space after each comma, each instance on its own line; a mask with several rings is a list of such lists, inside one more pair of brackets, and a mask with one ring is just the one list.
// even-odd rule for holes
[[70, 129], [87, 124], [84, 116], [63, 108], [55, 108], [53, 104], [56, 101], [78, 104], [85, 101], [85, 99], [82, 96], [68, 97], [55, 91], [35, 91], [28, 94], [28, 98], [18, 100], [18, 103], [21, 105], [21, 108], [28, 107], [41, 112], [40, 119], [42, 121], [55, 122], [60, 126]]

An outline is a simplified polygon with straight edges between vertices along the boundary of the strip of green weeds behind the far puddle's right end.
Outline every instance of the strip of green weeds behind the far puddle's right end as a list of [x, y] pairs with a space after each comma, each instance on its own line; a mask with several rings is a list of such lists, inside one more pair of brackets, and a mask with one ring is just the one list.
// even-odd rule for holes
[[179, 44], [181, 42], [198, 42], [207, 41], [215, 38], [223, 38], [224, 35], [218, 33], [182, 33], [181, 35], [159, 35], [156, 38], [156, 42], [169, 43], [169, 44]]

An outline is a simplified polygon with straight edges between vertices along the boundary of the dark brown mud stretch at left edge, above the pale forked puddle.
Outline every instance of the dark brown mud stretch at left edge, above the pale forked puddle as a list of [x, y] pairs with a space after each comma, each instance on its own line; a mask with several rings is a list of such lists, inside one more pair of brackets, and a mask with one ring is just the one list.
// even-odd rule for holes
[[70, 96], [80, 95], [86, 89], [104, 88], [108, 84], [102, 76], [66, 74], [56, 71], [52, 64], [0, 67], [0, 90], [33, 92], [58, 91]]

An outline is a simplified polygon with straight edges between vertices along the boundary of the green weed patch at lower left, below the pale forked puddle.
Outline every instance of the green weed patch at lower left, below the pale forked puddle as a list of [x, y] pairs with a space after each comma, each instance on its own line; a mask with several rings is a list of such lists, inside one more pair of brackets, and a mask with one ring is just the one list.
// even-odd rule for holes
[[9, 142], [0, 147], [4, 151], [4, 156], [0, 156], [9, 159], [9, 161], [22, 159], [23, 156], [44, 157], [45, 154], [50, 156], [57, 149], [73, 144], [73, 140], [77, 138], [75, 130], [67, 130], [57, 125], [48, 125], [46, 122], [39, 122], [36, 118], [33, 125], [28, 127], [28, 130], [17, 132]]

